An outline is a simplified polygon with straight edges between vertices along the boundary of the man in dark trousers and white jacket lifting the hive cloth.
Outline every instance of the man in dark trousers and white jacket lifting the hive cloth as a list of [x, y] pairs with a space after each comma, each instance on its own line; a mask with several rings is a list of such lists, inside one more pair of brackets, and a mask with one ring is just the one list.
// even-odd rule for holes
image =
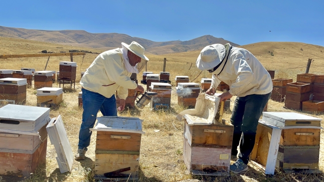
[[236, 162], [230, 166], [230, 170], [233, 173], [247, 171], [258, 120], [271, 96], [270, 74], [252, 53], [230, 44], [206, 46], [201, 50], [196, 65], [200, 70], [213, 74], [207, 94], [213, 95], [215, 88], [223, 81], [230, 89], [219, 96], [221, 100], [237, 96], [231, 116], [234, 125], [231, 159]]

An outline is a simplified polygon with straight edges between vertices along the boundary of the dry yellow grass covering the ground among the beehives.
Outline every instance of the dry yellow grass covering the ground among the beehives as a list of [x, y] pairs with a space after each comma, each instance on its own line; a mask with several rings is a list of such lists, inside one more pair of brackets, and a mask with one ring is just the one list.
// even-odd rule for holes
[[[7, 41], [7, 44], [16, 44], [17, 42], [12, 42], [12, 39]], [[26, 46], [26, 50], [22, 53], [32, 53], [34, 49], [31, 46], [33, 43], [36, 45], [41, 43], [37, 42], [26, 42], [25, 44], [30, 44], [30, 47]], [[55, 50], [56, 45], [51, 45], [46, 43], [45, 46], [52, 46]], [[12, 47], [11, 49], [14, 49]], [[0, 46], [0, 51], [3, 47]], [[38, 50], [38, 49], [37, 49]], [[12, 52], [12, 54], [17, 54], [20, 51]], [[35, 52], [35, 51], [34, 51]], [[96, 55], [86, 55], [84, 59], [81, 56], [75, 56], [74, 61], [78, 64], [77, 75], [78, 80], [80, 79], [80, 72], [85, 70], [93, 61]], [[191, 80], [198, 76], [200, 71], [194, 66], [196, 59], [196, 53], [188, 52], [182, 53], [180, 55], [169, 55], [169, 56], [154, 56], [149, 57], [152, 61], [149, 62], [148, 71], [154, 73], [159, 73], [162, 71], [163, 67], [163, 57], [167, 57], [166, 71], [171, 74], [171, 84], [175, 85], [173, 78], [177, 75], [189, 76]], [[22, 58], [22, 59], [8, 59], [0, 60], [0, 69], [20, 69], [21, 67], [35, 68], [36, 70], [43, 70], [45, 63], [45, 58]], [[49, 61], [49, 69], [58, 71], [59, 61], [69, 60], [68, 57], [51, 57]], [[263, 60], [267, 61], [267, 60]], [[187, 62], [189, 64], [187, 64]], [[307, 60], [306, 60], [307, 62]], [[190, 64], [193, 63], [190, 70]], [[270, 65], [271, 66], [271, 65]], [[299, 69], [291, 69], [287, 71], [282, 67], [267, 66], [268, 69], [275, 69], [276, 78], [293, 78], [296, 79], [297, 73], [304, 72]], [[144, 70], [145, 71], [145, 70]], [[324, 73], [321, 69], [312, 70], [311, 72]], [[141, 75], [141, 74], [140, 74]], [[210, 78], [209, 73], [201, 73], [198, 78], [194, 81], [199, 83], [201, 78]], [[138, 76], [141, 80], [141, 77]], [[58, 87], [54, 84], [53, 87]], [[76, 83], [75, 90], [64, 89], [63, 99], [64, 102], [60, 105], [58, 109], [52, 109], [50, 111], [50, 117], [56, 117], [59, 114], [62, 116], [65, 129], [68, 133], [68, 139], [71, 143], [71, 147], [74, 153], [77, 151], [78, 143], [78, 132], [81, 124], [82, 109], [78, 107], [78, 92], [81, 91], [81, 87]], [[231, 99], [231, 107], [233, 107], [234, 99]], [[27, 89], [27, 103], [26, 105], [35, 106], [36, 105], [36, 95], [33, 88]], [[275, 102], [270, 100], [268, 111], [285, 111], [292, 112], [293, 110], [287, 110], [283, 108], [283, 103]], [[120, 116], [132, 116], [139, 117], [144, 120], [143, 129], [146, 132], [142, 136], [141, 143], [141, 160], [140, 160], [140, 181], [143, 182], [175, 182], [185, 179], [203, 179], [204, 181], [210, 182], [277, 182], [277, 181], [288, 181], [288, 182], [321, 182], [324, 181], [323, 175], [300, 175], [300, 174], [285, 174], [277, 171], [273, 177], [265, 176], [262, 172], [258, 171], [257, 168], [250, 166], [249, 171], [245, 174], [235, 175], [231, 174], [228, 178], [208, 178], [191, 176], [186, 172], [186, 167], [182, 160], [182, 149], [183, 149], [183, 122], [177, 121], [175, 116], [177, 113], [186, 109], [183, 106], [177, 105], [177, 97], [174, 91], [174, 87], [171, 95], [171, 108], [170, 110], [163, 111], [151, 111], [147, 106], [143, 110], [141, 109], [126, 109], [120, 112]], [[295, 111], [296, 112], [296, 111]], [[297, 111], [301, 112], [301, 111]], [[323, 113], [305, 113], [307, 115], [312, 115], [324, 119]], [[231, 115], [231, 110], [224, 114], [224, 119], [229, 120]], [[101, 113], [98, 113], [101, 116]], [[324, 125], [324, 123], [322, 123]], [[160, 130], [155, 132], [155, 130]], [[321, 133], [321, 152], [320, 152], [320, 167], [324, 170], [324, 132]], [[30, 179], [25, 179], [26, 182], [92, 182], [93, 181], [93, 169], [95, 161], [95, 138], [96, 132], [93, 132], [91, 138], [91, 144], [87, 152], [87, 158], [84, 161], [78, 162], [74, 161], [71, 173], [60, 174], [58, 165], [56, 162], [56, 152], [53, 145], [50, 144], [48, 140], [47, 145], [47, 156], [46, 156], [46, 166], [40, 167], [35, 174], [32, 175]], [[7, 177], [0, 177], [0, 182], [11, 180], [6, 179]]]

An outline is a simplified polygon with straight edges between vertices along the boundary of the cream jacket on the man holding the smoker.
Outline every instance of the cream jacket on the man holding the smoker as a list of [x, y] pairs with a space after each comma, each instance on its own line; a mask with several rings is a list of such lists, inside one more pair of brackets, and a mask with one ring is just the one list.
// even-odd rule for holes
[[137, 88], [131, 75], [125, 68], [122, 50], [117, 48], [99, 54], [84, 73], [80, 85], [107, 98], [118, 91], [118, 97], [126, 99], [128, 89]]

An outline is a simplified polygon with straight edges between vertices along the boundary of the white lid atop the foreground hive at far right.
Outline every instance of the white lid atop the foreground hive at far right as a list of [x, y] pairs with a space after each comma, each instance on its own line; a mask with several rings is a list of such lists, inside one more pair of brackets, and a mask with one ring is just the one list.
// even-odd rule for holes
[[[296, 112], [263, 112], [262, 120], [272, 123], [277, 127], [283, 127], [291, 125], [290, 122], [287, 121], [296, 121], [294, 126], [307, 126], [310, 121], [319, 121], [319, 126], [321, 126], [322, 119], [296, 113]], [[289, 123], [289, 124], [288, 124]]]

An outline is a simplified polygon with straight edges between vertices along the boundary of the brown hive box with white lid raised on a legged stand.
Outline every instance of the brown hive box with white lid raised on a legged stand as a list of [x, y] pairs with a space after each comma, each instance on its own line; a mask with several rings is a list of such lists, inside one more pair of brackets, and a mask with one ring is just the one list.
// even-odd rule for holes
[[76, 62], [62, 61], [60, 66], [60, 80], [75, 80], [76, 79]]

